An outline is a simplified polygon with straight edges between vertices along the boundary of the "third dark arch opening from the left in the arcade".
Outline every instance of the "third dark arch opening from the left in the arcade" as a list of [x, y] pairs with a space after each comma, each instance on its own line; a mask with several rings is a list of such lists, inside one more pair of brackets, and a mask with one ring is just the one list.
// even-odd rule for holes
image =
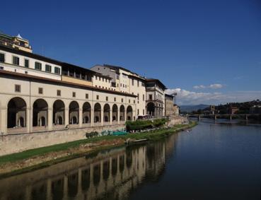
[[52, 111], [52, 123], [55, 125], [64, 124], [64, 102], [62, 100], [54, 101], [53, 111]]

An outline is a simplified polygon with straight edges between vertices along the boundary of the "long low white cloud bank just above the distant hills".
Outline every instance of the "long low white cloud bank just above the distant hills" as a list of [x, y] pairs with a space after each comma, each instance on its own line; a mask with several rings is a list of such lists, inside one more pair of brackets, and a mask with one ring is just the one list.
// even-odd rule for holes
[[178, 105], [218, 105], [226, 102], [245, 102], [261, 98], [261, 91], [246, 90], [231, 93], [197, 93], [181, 88], [168, 89], [166, 93], [177, 93], [176, 101]]

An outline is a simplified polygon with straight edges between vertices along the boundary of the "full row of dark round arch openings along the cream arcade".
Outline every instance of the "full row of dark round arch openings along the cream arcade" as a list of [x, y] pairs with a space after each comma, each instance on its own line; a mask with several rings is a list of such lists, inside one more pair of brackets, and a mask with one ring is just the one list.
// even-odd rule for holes
[[[118, 112], [120, 109], [120, 113]], [[7, 117], [7, 128], [13, 127], [26, 127], [26, 110], [27, 105], [25, 100], [22, 98], [12, 98], [8, 102], [8, 117]], [[82, 110], [82, 111], [81, 111]], [[69, 124], [79, 124], [80, 112], [82, 112], [82, 123], [91, 123], [91, 117], [93, 117], [94, 123], [102, 122], [102, 112], [103, 112], [103, 122], [117, 122], [132, 120], [133, 111], [132, 106], [127, 106], [126, 116], [125, 107], [120, 105], [120, 108], [116, 104], [110, 105], [106, 103], [103, 106], [96, 102], [93, 107], [93, 113], [91, 112], [91, 104], [89, 102], [84, 102], [82, 109], [79, 107], [79, 103], [72, 101], [69, 104]], [[112, 118], [111, 115], [112, 114]], [[93, 115], [93, 116], [92, 116]], [[119, 116], [118, 116], [119, 115]], [[52, 105], [52, 116], [48, 116], [48, 104], [44, 99], [37, 99], [33, 103], [33, 127], [45, 127], [48, 124], [48, 117], [52, 117], [52, 124], [54, 125], [66, 125], [65, 124], [65, 105], [62, 100], [55, 100]]]

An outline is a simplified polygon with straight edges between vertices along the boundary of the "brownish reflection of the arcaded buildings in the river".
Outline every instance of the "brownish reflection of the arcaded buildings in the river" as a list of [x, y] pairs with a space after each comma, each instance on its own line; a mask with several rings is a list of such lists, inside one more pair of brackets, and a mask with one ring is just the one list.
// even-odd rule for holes
[[177, 136], [8, 177], [0, 180], [0, 200], [127, 199], [144, 180], [158, 180]]

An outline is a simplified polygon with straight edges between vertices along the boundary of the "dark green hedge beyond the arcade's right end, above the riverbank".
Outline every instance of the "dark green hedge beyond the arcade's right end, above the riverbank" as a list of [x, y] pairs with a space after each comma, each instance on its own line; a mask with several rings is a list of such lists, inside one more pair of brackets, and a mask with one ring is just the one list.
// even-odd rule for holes
[[127, 131], [138, 131], [143, 129], [151, 129], [153, 127], [162, 127], [166, 123], [166, 119], [137, 120], [135, 122], [127, 121]]

